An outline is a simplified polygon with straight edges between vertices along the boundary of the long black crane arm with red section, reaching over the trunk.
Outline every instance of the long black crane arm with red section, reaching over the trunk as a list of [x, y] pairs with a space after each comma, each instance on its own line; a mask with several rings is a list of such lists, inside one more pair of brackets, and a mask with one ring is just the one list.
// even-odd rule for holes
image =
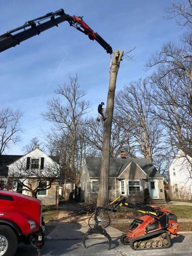
[[[45, 21], [49, 19], [48, 21]], [[45, 21], [45, 22], [44, 22]], [[3, 52], [11, 47], [19, 45], [28, 38], [39, 35], [41, 32], [49, 28], [58, 27], [58, 24], [68, 21], [70, 26], [75, 27], [79, 31], [88, 35], [89, 39], [96, 40], [107, 53], [112, 53], [111, 46], [101, 38], [98, 33], [95, 33], [91, 28], [83, 22], [82, 17], [70, 16], [60, 9], [56, 12], [47, 13], [44, 16], [26, 22], [23, 26], [8, 31], [0, 35], [0, 52]], [[41, 23], [43, 22], [43, 23]]]

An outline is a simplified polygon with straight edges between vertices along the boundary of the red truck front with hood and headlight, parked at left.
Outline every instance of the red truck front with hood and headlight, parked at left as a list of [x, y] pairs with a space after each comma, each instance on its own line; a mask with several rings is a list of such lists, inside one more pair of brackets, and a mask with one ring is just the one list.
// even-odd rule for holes
[[41, 201], [11, 191], [0, 191], [0, 256], [13, 256], [18, 243], [32, 244], [37, 255], [44, 244]]

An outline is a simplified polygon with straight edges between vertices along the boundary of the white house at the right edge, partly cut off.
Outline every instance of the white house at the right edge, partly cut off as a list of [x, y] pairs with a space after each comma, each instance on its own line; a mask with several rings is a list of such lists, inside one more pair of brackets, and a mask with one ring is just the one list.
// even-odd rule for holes
[[180, 149], [169, 168], [173, 199], [192, 199], [192, 149]]

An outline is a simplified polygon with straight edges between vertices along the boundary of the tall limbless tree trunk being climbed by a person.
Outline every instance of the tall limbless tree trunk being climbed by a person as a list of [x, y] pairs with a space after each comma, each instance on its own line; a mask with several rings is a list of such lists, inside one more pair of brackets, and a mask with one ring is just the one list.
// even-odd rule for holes
[[101, 161], [99, 193], [97, 206], [107, 206], [109, 198], [109, 161], [110, 161], [110, 144], [111, 144], [111, 126], [113, 120], [114, 96], [116, 88], [116, 79], [123, 51], [115, 50], [113, 62], [110, 68], [109, 89], [106, 107], [106, 120], [104, 121], [103, 130], [103, 152]]

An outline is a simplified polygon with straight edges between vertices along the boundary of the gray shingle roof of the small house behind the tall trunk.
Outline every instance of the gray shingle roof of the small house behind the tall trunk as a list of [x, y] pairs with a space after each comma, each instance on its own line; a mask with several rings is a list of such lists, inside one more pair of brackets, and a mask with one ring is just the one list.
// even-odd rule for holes
[[[100, 157], [86, 157], [86, 164], [89, 170], [90, 177], [99, 177], [101, 170], [101, 158]], [[147, 159], [142, 158], [110, 158], [109, 165], [109, 177], [116, 178], [121, 175], [122, 171], [134, 161], [150, 178], [163, 178], [163, 176], [157, 171], [154, 165]]]

